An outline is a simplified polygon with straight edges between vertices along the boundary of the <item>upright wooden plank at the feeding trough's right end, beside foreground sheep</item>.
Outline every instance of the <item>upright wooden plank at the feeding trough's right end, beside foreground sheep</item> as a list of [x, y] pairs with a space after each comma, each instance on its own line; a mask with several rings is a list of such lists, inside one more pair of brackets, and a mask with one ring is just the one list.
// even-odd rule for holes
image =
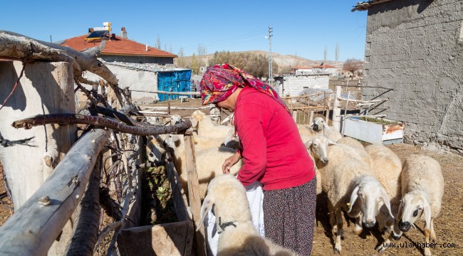
[[[194, 155], [194, 140], [192, 129], [189, 129], [184, 135], [185, 146], [185, 164], [187, 167], [188, 177], [188, 199], [189, 208], [192, 209], [194, 230], [197, 228], [197, 221], [201, 213], [201, 198], [199, 198], [199, 181], [196, 171], [196, 156]], [[198, 256], [206, 256], [206, 235], [204, 228], [194, 233], [194, 241]]]

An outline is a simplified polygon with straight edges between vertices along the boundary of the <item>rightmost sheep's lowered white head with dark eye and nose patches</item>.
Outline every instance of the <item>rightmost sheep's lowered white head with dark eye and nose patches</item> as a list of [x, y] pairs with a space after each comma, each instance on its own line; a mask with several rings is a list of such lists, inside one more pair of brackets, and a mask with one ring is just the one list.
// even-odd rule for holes
[[424, 191], [412, 191], [402, 197], [399, 206], [399, 228], [407, 232], [421, 215], [425, 215], [426, 227], [431, 223], [431, 207]]

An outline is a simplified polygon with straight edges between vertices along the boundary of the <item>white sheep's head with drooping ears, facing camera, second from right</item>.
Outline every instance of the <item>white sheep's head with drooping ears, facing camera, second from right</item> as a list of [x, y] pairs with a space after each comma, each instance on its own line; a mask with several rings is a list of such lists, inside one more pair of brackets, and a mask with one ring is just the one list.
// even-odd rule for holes
[[373, 228], [376, 223], [376, 215], [378, 215], [383, 205], [387, 208], [392, 218], [394, 216], [390, 210], [390, 201], [386, 191], [373, 176], [360, 177], [358, 185], [355, 186], [350, 194], [348, 214], [351, 217], [358, 215], [358, 210], [353, 210], [353, 208], [355, 209], [355, 203], [360, 204], [359, 209], [363, 213], [362, 223], [365, 228]]

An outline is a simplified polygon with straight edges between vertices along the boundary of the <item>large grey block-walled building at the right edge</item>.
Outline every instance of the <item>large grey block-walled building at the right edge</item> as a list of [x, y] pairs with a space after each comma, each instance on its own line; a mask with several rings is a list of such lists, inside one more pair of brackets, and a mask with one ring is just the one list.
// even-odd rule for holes
[[363, 97], [389, 99], [382, 113], [405, 122], [406, 142], [463, 153], [463, 1], [372, 0], [352, 11], [363, 10], [363, 83], [373, 86]]

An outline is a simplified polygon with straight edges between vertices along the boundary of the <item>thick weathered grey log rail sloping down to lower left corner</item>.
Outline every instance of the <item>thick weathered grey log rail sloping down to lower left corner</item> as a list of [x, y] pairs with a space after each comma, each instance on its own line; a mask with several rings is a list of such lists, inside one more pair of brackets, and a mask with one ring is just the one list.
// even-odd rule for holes
[[49, 176], [0, 228], [0, 255], [46, 255], [85, 191], [111, 130], [83, 135]]

